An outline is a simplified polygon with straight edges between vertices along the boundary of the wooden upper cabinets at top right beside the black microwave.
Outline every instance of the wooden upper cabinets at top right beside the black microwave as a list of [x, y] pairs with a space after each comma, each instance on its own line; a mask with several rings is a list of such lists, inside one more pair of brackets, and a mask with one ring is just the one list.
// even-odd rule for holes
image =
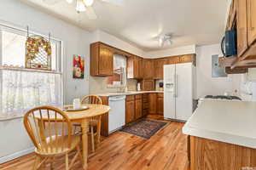
[[230, 73], [235, 73], [235, 68], [256, 67], [256, 2], [255, 0], [233, 0], [231, 3], [229, 20], [226, 31], [237, 31], [237, 56], [219, 59], [222, 67], [230, 67]]

